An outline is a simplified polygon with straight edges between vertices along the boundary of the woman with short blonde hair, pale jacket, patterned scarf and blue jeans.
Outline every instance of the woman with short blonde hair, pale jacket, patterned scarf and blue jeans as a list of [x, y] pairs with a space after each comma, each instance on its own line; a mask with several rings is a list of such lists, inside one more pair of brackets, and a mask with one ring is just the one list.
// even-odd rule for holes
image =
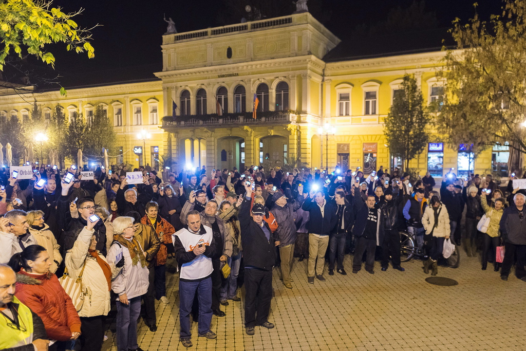
[[114, 242], [107, 257], [112, 271], [112, 290], [117, 298], [117, 350], [142, 351], [137, 344], [140, 297], [148, 290], [146, 254], [134, 238], [134, 219], [118, 217], [113, 221]]

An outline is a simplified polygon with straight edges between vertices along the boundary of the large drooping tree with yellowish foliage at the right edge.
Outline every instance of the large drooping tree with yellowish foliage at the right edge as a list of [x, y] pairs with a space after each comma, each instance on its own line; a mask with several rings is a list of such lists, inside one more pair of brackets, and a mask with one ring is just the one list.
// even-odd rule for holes
[[438, 131], [453, 145], [473, 144], [476, 155], [504, 142], [526, 153], [526, 0], [507, 0], [489, 23], [477, 14], [465, 25], [457, 18], [450, 32], [457, 50], [447, 52], [441, 72]]

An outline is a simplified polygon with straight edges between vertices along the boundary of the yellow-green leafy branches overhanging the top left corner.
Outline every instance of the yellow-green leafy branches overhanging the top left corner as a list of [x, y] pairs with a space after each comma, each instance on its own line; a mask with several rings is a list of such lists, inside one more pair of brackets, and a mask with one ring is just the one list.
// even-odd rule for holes
[[43, 62], [54, 65], [55, 57], [45, 49], [46, 44], [65, 43], [68, 51], [87, 52], [94, 57], [89, 43], [89, 29], [81, 29], [73, 17], [82, 12], [64, 13], [51, 7], [46, 0], [3, 0], [0, 2], [0, 71], [7, 55], [14, 52], [19, 57], [26, 53], [35, 55]]

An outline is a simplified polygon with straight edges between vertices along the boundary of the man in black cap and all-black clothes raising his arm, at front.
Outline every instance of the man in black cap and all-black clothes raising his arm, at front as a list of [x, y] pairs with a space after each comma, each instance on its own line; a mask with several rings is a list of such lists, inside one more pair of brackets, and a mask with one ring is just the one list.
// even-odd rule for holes
[[245, 199], [239, 210], [241, 244], [245, 262], [245, 328], [247, 335], [254, 335], [255, 326], [268, 329], [274, 324], [268, 322], [270, 300], [272, 299], [272, 268], [276, 262], [279, 245], [265, 216], [265, 206], [254, 204], [250, 216], [252, 187], [245, 184]]

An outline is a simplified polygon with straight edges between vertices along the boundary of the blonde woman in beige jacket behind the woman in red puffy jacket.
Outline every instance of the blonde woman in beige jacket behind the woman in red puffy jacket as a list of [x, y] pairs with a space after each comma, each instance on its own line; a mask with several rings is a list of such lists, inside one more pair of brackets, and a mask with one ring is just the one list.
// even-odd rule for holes
[[57, 244], [55, 235], [49, 230], [49, 226], [44, 223], [44, 212], [30, 211], [27, 213], [27, 224], [29, 224], [29, 234], [33, 235], [38, 245], [43, 246], [49, 253], [51, 267], [49, 272], [55, 273], [58, 266], [62, 263], [60, 255], [60, 245]]

